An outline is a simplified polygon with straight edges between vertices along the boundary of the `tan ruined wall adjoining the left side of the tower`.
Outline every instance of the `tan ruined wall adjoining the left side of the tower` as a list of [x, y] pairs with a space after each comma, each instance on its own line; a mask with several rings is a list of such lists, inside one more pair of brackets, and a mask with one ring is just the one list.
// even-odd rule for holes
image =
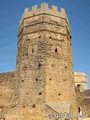
[[15, 89], [15, 72], [0, 73], [0, 108], [9, 105]]

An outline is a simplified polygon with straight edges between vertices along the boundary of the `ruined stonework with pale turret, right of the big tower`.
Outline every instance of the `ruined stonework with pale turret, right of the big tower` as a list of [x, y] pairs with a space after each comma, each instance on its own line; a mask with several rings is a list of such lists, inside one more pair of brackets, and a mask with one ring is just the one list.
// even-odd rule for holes
[[90, 90], [87, 89], [86, 74], [75, 72], [74, 75], [78, 111], [81, 110], [83, 115], [90, 117]]

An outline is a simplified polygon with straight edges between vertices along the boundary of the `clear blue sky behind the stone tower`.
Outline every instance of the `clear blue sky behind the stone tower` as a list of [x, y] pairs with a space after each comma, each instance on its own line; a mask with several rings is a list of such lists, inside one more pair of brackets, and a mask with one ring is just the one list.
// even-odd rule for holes
[[90, 88], [90, 0], [0, 1], [0, 72], [15, 70], [17, 32], [24, 9], [42, 2], [65, 8], [72, 35], [74, 71], [87, 74]]

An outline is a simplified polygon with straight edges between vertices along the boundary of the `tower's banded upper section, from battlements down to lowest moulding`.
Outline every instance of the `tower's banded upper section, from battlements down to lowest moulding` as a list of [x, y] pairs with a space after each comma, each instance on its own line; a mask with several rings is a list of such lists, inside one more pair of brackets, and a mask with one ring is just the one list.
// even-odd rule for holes
[[71, 44], [69, 22], [63, 8], [60, 11], [54, 5], [49, 8], [47, 3], [42, 3], [40, 8], [37, 5], [32, 6], [31, 11], [26, 8], [20, 20], [18, 42], [22, 35], [38, 31], [52, 31], [63, 34], [68, 37]]

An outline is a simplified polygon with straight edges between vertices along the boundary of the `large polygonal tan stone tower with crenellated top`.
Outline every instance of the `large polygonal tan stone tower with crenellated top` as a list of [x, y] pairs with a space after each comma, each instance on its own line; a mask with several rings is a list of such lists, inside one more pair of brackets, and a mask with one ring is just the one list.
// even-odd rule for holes
[[71, 36], [64, 9], [42, 3], [25, 9], [18, 31], [17, 105], [6, 120], [48, 120], [77, 113]]

